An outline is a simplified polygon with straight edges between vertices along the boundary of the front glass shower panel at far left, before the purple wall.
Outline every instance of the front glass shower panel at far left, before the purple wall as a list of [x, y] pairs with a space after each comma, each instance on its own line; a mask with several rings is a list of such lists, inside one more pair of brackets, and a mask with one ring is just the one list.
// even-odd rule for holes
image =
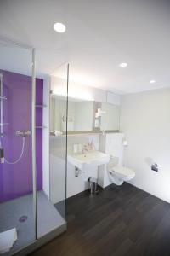
[[31, 167], [31, 49], [1, 39], [0, 55], [0, 233], [12, 233], [12, 246], [1, 244], [0, 253], [8, 251], [5, 255], [10, 255], [36, 238]]

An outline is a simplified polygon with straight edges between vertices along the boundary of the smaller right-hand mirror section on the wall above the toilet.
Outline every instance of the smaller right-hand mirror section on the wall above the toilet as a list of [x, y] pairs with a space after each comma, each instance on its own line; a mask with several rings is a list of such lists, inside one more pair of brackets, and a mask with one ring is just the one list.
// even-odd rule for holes
[[110, 103], [101, 103], [101, 131], [118, 131], [120, 106]]

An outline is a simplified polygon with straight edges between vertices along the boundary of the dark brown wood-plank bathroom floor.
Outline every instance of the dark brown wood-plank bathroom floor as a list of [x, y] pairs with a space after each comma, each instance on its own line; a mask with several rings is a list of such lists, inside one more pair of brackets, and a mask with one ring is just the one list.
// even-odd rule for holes
[[170, 205], [127, 183], [67, 204], [68, 230], [32, 256], [170, 255]]

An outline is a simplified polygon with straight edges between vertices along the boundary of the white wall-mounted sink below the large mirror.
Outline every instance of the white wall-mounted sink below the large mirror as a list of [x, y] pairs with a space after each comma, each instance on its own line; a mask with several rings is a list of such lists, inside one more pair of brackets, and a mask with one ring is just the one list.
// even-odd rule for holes
[[104, 165], [109, 162], [110, 157], [99, 151], [89, 151], [86, 154], [68, 154], [67, 159], [73, 166], [83, 170], [86, 165]]

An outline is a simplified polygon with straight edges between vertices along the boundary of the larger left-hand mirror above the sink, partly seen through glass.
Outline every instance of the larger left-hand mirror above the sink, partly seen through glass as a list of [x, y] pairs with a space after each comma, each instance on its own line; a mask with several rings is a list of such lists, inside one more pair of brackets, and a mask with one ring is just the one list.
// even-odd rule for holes
[[[58, 133], [66, 131], [66, 101], [64, 96], [51, 96], [50, 130]], [[93, 130], [94, 102], [69, 98], [68, 132]], [[58, 134], [59, 135], [59, 134]]]

